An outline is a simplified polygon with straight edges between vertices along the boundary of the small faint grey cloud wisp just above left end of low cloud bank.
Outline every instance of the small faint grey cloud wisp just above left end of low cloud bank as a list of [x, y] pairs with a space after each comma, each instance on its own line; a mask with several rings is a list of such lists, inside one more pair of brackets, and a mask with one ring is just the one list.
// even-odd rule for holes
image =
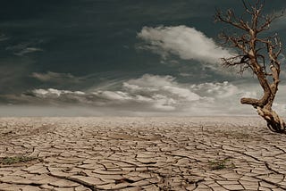
[[52, 83], [78, 83], [81, 80], [70, 73], [57, 73], [53, 71], [47, 71], [46, 73], [33, 72], [30, 77], [42, 82]]

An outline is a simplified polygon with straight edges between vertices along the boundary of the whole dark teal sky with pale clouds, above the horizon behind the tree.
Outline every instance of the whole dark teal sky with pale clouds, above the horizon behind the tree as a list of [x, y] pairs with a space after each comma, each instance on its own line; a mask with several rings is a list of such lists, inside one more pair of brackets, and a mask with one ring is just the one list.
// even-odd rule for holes
[[[215, 9], [239, 0], [4, 0], [0, 116], [255, 115], [251, 73], [225, 69]], [[265, 13], [286, 1], [265, 0]], [[286, 42], [286, 16], [266, 35]], [[282, 55], [284, 51], [282, 52]], [[282, 57], [282, 62], [284, 57]], [[273, 105], [286, 114], [286, 73]]]

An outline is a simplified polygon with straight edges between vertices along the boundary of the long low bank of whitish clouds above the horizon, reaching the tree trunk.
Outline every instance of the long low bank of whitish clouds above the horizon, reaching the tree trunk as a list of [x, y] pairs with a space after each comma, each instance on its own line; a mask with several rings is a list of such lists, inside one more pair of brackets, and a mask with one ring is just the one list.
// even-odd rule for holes
[[[86, 107], [97, 111], [97, 115], [100, 111], [105, 111], [103, 115], [124, 113], [131, 116], [138, 113], [189, 116], [256, 114], [249, 105], [240, 104], [242, 96], [259, 97], [259, 87], [244, 87], [227, 81], [179, 83], [172, 76], [145, 74], [138, 79], [125, 80], [118, 90], [39, 88], [20, 96], [2, 95], [0, 101], [43, 107]], [[279, 105], [276, 107], [283, 108]]]

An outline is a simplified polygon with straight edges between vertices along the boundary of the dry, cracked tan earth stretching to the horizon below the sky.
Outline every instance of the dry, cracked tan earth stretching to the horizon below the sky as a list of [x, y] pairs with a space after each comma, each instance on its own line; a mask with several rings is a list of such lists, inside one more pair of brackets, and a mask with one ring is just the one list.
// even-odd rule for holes
[[0, 118], [0, 190], [286, 190], [259, 118]]

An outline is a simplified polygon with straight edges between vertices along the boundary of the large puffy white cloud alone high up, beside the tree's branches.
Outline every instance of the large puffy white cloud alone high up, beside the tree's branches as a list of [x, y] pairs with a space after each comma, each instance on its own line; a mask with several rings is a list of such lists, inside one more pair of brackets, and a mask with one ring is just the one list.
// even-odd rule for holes
[[231, 53], [217, 46], [212, 38], [197, 29], [186, 26], [176, 27], [144, 27], [138, 37], [147, 44], [143, 49], [151, 50], [166, 57], [176, 54], [184, 60], [218, 63], [223, 57], [230, 57]]

